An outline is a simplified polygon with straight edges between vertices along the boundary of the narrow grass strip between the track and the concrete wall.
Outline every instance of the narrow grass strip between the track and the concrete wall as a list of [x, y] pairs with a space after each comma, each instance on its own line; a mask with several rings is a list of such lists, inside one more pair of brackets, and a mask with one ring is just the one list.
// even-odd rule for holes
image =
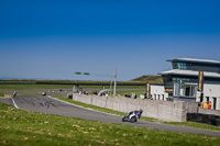
[[[67, 99], [66, 97], [63, 97], [63, 96], [53, 96], [53, 97], [57, 98], [59, 100], [63, 100], [63, 101], [67, 101], [69, 103], [74, 103], [76, 105], [80, 105], [80, 106], [88, 108], [88, 109], [94, 109], [94, 110], [97, 110], [97, 111], [100, 111], [100, 112], [111, 113], [111, 114], [116, 114], [116, 115], [120, 115], [120, 116], [124, 115], [123, 112], [118, 112], [118, 111], [114, 111], [114, 110], [111, 110], [111, 109], [106, 109], [106, 108], [100, 108], [100, 106], [96, 106], [96, 105], [91, 105], [91, 104], [86, 104], [86, 103], [82, 103], [82, 102], [74, 101], [72, 99]], [[155, 122], [155, 123], [162, 123], [162, 124], [176, 125], [176, 126], [185, 126], [185, 127], [194, 127], [194, 128], [201, 128], [201, 130], [210, 130], [210, 131], [220, 132], [219, 126], [201, 124], [201, 123], [196, 123], [196, 122], [166, 122], [166, 121], [160, 121], [160, 120], [156, 120], [156, 119], [145, 117], [145, 116], [142, 116], [141, 120], [148, 121], [148, 122]]]

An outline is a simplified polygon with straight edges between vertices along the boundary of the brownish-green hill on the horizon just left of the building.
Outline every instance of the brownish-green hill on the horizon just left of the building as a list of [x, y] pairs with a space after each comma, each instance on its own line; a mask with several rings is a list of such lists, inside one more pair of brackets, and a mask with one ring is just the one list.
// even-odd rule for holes
[[132, 79], [130, 81], [136, 81], [136, 82], [146, 82], [148, 81], [150, 83], [163, 83], [163, 78], [161, 76], [150, 76], [150, 75], [144, 75], [139, 78]]

